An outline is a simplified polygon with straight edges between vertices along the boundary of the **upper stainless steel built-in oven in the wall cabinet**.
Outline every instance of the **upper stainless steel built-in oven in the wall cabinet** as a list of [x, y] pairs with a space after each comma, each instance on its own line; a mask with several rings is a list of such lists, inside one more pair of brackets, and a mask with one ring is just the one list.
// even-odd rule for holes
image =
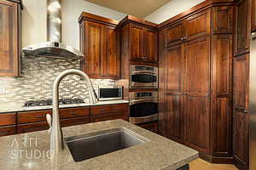
[[131, 65], [130, 88], [158, 88], [158, 68], [146, 65]]

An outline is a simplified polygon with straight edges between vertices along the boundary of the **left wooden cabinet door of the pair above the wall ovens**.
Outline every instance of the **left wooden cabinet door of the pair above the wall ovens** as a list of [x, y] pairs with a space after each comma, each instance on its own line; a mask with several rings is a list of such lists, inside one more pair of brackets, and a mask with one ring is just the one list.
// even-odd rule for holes
[[143, 30], [143, 26], [131, 25], [131, 59], [145, 59], [143, 56]]

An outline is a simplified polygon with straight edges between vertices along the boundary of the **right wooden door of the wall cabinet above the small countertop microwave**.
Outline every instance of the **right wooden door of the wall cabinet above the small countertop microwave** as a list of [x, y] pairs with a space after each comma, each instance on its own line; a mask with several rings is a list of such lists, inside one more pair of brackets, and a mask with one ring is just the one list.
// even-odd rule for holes
[[102, 55], [103, 77], [118, 79], [120, 75], [120, 59], [116, 27], [105, 26], [104, 36], [105, 54]]

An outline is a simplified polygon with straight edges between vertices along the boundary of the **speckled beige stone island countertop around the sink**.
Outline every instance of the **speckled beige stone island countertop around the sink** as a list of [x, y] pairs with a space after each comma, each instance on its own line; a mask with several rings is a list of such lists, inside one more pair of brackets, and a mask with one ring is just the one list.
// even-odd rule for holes
[[175, 170], [198, 158], [198, 152], [122, 120], [64, 127], [64, 138], [123, 127], [148, 139], [125, 150], [75, 162], [65, 144], [54, 159], [47, 156], [48, 131], [0, 138], [0, 169], [8, 170]]

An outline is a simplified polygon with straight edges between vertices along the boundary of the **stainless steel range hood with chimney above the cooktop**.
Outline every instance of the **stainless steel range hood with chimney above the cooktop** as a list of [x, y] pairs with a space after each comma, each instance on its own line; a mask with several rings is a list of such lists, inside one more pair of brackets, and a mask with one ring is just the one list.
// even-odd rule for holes
[[22, 48], [22, 54], [61, 59], [84, 56], [79, 50], [61, 43], [61, 0], [47, 0], [47, 41]]

